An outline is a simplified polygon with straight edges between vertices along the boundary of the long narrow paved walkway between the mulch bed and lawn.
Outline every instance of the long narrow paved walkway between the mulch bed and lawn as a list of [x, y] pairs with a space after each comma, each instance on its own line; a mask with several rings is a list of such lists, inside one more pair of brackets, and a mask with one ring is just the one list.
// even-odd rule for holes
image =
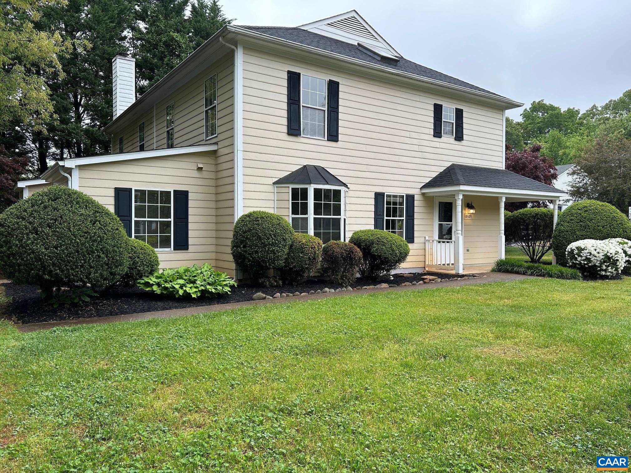
[[[488, 274], [485, 274], [485, 277], [474, 277], [473, 279], [458, 279], [454, 281], [445, 281], [440, 283], [418, 284], [416, 286], [396, 286], [383, 289], [360, 289], [358, 291], [342, 291], [339, 293], [313, 294], [308, 296], [296, 296], [292, 298], [266, 299], [261, 301], [245, 301], [235, 302], [231, 304], [206, 305], [200, 307], [187, 307], [183, 309], [162, 310], [158, 312], [132, 313], [128, 315], [111, 315], [110, 317], [78, 318], [75, 320], [60, 320], [59, 322], [40, 322], [38, 324], [16, 325], [16, 328], [20, 330], [20, 332], [35, 332], [37, 330], [52, 329], [54, 327], [74, 327], [75, 325], [87, 324], [109, 324], [111, 322], [133, 322], [134, 320], [148, 320], [150, 318], [184, 317], [186, 315], [194, 315], [206, 312], [220, 312], [222, 310], [230, 310], [239, 307], [250, 307], [253, 305], [279, 303], [286, 304], [290, 302], [312, 301], [328, 297], [365, 295], [384, 291], [425, 291], [428, 289], [438, 288], [459, 288], [461, 286], [469, 286], [471, 284], [518, 281], [519, 279], [529, 279], [533, 277], [534, 276], [522, 276], [521, 274], [507, 274], [505, 272], [490, 272]], [[271, 288], [270, 291], [275, 291], [275, 289]]]

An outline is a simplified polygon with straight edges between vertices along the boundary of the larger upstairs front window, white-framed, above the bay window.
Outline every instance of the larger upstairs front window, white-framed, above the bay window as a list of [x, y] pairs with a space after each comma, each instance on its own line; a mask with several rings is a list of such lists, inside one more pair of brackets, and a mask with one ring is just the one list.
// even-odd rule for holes
[[326, 79], [302, 74], [301, 80], [302, 136], [325, 139]]

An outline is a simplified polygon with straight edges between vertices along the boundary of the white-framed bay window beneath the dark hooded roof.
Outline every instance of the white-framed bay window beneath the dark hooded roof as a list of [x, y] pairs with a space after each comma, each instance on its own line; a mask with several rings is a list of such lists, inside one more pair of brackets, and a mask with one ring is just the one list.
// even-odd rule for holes
[[290, 187], [290, 223], [322, 243], [346, 239], [346, 189], [334, 186]]

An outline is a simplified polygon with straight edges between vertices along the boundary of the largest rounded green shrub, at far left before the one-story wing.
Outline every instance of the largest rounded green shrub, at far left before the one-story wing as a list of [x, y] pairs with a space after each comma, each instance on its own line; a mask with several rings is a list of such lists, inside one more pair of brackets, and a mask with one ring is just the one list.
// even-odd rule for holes
[[100, 289], [127, 261], [121, 221], [78, 190], [54, 185], [0, 214], [0, 269], [14, 283]]

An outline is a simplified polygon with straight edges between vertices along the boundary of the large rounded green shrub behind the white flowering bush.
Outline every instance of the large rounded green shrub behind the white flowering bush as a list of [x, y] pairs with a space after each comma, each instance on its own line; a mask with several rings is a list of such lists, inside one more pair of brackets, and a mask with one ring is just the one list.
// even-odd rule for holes
[[616, 207], [599, 201], [575, 202], [559, 216], [552, 235], [557, 263], [567, 266], [565, 251], [579, 240], [631, 239], [631, 223]]

